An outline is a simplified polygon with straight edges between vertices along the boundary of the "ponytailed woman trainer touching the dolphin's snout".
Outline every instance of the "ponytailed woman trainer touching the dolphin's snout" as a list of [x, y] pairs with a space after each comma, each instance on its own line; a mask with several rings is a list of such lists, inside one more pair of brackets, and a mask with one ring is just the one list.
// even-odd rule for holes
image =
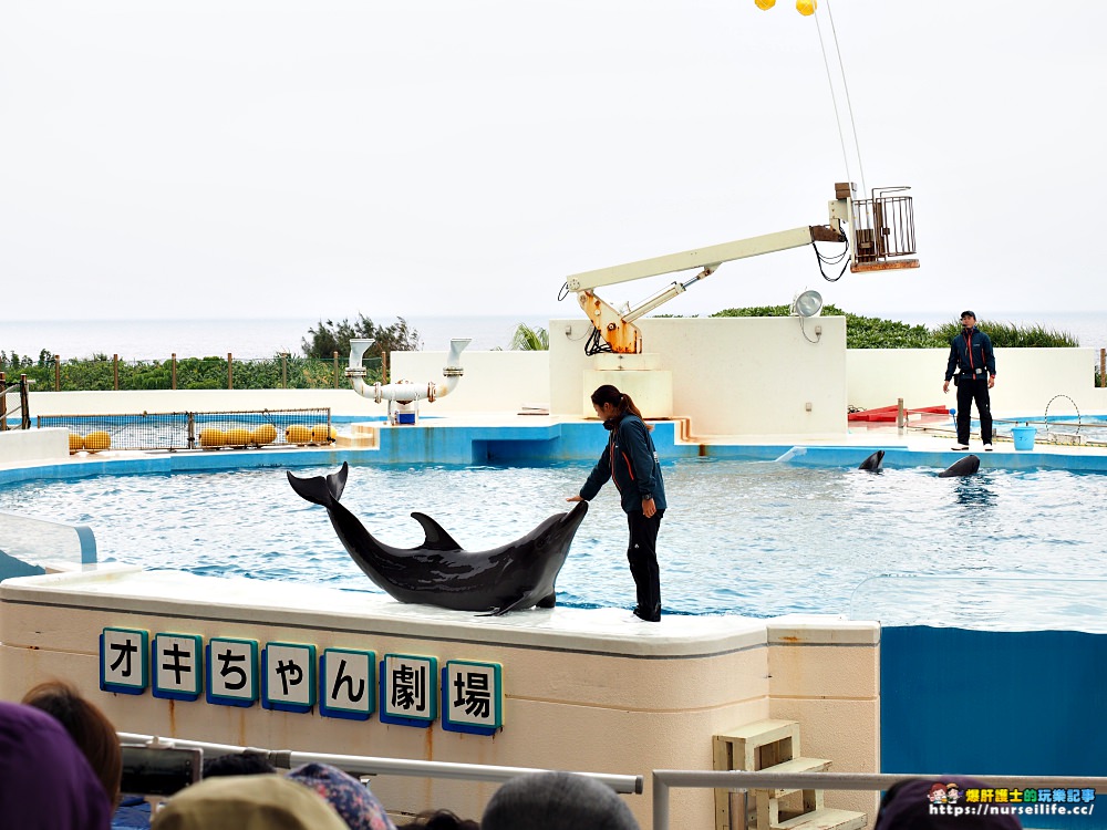
[[637, 587], [634, 615], [646, 622], [661, 621], [661, 575], [658, 568], [658, 532], [665, 515], [665, 483], [653, 438], [630, 395], [610, 384], [592, 393], [592, 408], [610, 430], [600, 455], [580, 492], [567, 501], [591, 501], [610, 478], [615, 483], [627, 513], [630, 543], [627, 559]]

